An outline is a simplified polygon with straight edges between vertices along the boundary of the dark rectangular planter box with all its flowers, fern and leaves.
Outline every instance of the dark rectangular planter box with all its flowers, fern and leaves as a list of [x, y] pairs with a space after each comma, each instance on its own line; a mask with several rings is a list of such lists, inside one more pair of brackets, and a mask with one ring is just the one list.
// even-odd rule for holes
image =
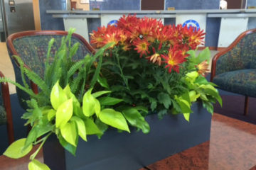
[[[32, 129], [28, 137], [10, 145], [4, 155], [23, 157], [32, 145], [40, 144], [31, 155], [28, 169], [49, 169], [46, 164], [51, 169], [130, 169], [127, 164], [133, 158], [137, 163], [132, 167], [137, 169], [208, 140], [210, 114], [202, 114], [206, 110], [199, 105], [202, 103], [213, 113], [212, 103], [216, 100], [221, 103], [221, 98], [215, 85], [202, 76], [208, 67], [209, 50], [195, 55], [194, 50], [204, 35], [201, 30], [163, 26], [151, 18], [123, 16], [117, 27], [102, 27], [92, 34], [92, 44], [100, 50], [79, 62], [72, 61], [78, 48], [76, 44], [70, 46], [72, 33], [73, 30], [63, 39], [51, 64], [48, 52], [44, 79], [23, 67], [19, 57], [14, 56], [21, 74], [38, 84], [39, 94], [33, 94], [24, 76], [25, 86], [0, 79], [16, 84], [31, 96], [23, 118]], [[50, 40], [48, 51], [53, 41]], [[199, 102], [193, 104], [196, 101]], [[159, 118], [172, 114], [157, 120], [154, 113]], [[191, 119], [191, 123], [181, 120], [181, 116], [187, 121]], [[196, 118], [194, 123], [193, 118]], [[169, 128], [165, 129], [166, 125]], [[178, 135], [180, 131], [174, 126], [181, 128], [183, 135]], [[132, 133], [117, 133], [113, 128]], [[136, 129], [147, 135], [133, 132]], [[176, 136], [170, 137], [170, 132]], [[53, 133], [55, 137], [50, 137]], [[87, 141], [87, 135], [102, 139], [92, 136]], [[183, 145], [188, 139], [191, 141]], [[80, 140], [87, 142], [78, 146]], [[175, 145], [169, 145], [174, 147], [173, 151], [162, 152], [168, 147], [159, 141], [173, 141]], [[46, 145], [43, 148], [46, 164], [35, 159], [43, 145]], [[79, 161], [62, 148], [73, 155], [77, 153]], [[154, 154], [146, 153], [152, 148]], [[156, 153], [158, 150], [161, 153]]]

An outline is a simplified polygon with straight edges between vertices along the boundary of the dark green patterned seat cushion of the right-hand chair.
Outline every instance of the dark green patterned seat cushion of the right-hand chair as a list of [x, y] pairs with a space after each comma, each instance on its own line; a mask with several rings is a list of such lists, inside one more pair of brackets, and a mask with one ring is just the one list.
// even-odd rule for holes
[[225, 91], [256, 97], [256, 69], [240, 69], [218, 74], [213, 78], [213, 83]]

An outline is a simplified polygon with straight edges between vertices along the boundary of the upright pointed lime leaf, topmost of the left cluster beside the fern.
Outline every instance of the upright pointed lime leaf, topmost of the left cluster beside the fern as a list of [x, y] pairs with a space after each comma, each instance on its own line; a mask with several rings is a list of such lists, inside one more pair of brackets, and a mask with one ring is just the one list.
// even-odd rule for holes
[[61, 89], [60, 84], [57, 81], [50, 92], [50, 103], [52, 104], [53, 108], [57, 110], [58, 107], [67, 100], [68, 97], [63, 89]]

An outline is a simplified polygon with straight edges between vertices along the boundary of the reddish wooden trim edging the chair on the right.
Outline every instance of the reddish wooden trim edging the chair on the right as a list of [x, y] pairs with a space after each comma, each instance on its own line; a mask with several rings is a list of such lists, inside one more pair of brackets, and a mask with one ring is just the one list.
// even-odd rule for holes
[[233, 47], [235, 47], [235, 45], [238, 44], [238, 42], [240, 42], [240, 40], [242, 38], [244, 38], [246, 35], [251, 34], [251, 33], [256, 33], [256, 29], [251, 29], [251, 30], [247, 30], [243, 33], [241, 33], [238, 38], [236, 38], [228, 47], [226, 47], [224, 50], [221, 50], [220, 52], [218, 52], [212, 60], [212, 67], [211, 67], [211, 72], [210, 72], [210, 81], [213, 81], [213, 77], [215, 77], [216, 74], [216, 64], [217, 64], [217, 60], [220, 56], [224, 55], [225, 53], [229, 52], [230, 50], [233, 49]]

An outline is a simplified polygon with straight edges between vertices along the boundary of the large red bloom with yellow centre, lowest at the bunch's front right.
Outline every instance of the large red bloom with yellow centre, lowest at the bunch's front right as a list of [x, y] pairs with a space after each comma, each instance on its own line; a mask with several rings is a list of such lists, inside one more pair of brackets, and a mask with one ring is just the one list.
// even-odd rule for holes
[[164, 58], [164, 62], [167, 64], [165, 68], [169, 67], [169, 73], [172, 69], [175, 72], [179, 73], [179, 64], [186, 61], [185, 56], [181, 54], [181, 50], [178, 50], [176, 47], [170, 48], [168, 56], [161, 55]]

